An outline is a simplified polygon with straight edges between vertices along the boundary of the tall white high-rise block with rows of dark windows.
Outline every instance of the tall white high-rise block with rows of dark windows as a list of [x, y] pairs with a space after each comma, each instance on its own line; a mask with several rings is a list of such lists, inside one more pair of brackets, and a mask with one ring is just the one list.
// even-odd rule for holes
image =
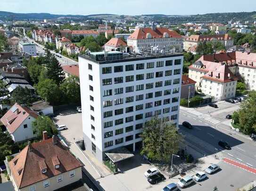
[[178, 123], [181, 53], [96, 52], [79, 56], [83, 138], [100, 161], [104, 153], [140, 147], [154, 115]]

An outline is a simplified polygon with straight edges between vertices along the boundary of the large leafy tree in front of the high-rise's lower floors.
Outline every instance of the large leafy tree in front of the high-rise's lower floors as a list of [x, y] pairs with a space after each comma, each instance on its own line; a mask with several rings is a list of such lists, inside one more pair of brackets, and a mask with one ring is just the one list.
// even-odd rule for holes
[[182, 136], [170, 122], [163, 122], [157, 116], [146, 122], [141, 134], [143, 147], [141, 154], [146, 154], [151, 160], [168, 162], [173, 153], [179, 150]]

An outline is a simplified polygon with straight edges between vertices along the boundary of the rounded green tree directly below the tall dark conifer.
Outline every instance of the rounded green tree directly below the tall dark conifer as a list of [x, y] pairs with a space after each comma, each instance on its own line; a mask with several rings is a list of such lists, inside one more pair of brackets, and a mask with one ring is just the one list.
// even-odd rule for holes
[[52, 79], [44, 79], [35, 85], [35, 88], [41, 98], [50, 102], [52, 105], [61, 103], [61, 92], [59, 86]]

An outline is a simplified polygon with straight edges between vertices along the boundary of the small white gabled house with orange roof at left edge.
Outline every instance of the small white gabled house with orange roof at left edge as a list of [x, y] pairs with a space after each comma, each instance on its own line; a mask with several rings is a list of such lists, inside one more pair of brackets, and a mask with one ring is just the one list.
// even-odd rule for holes
[[6, 127], [14, 142], [22, 142], [36, 137], [33, 133], [32, 122], [38, 116], [37, 112], [16, 103], [2, 116], [0, 121]]

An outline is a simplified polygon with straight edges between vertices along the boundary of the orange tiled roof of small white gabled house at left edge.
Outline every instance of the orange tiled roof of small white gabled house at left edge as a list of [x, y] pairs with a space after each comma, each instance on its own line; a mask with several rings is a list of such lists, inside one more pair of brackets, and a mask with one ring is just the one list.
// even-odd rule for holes
[[6, 126], [9, 133], [13, 133], [28, 116], [36, 118], [38, 114], [16, 103], [2, 116], [0, 121]]

